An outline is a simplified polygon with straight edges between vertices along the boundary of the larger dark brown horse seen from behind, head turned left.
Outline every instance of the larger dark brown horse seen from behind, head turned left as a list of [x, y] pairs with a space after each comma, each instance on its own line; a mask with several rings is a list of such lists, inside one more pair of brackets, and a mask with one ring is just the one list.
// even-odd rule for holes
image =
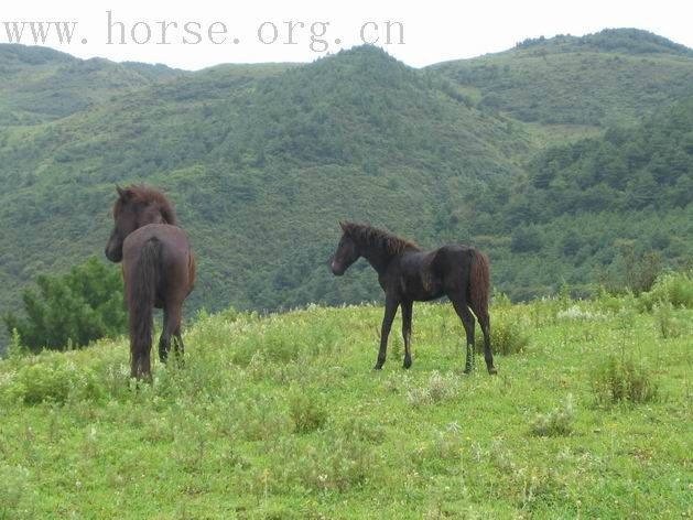
[[195, 258], [185, 231], [175, 225], [173, 206], [162, 193], [145, 186], [117, 189], [116, 226], [106, 245], [106, 257], [111, 262], [122, 261], [130, 324], [130, 375], [149, 379], [153, 307], [164, 311], [159, 358], [166, 361], [172, 336], [176, 354], [183, 354], [183, 301], [195, 283]]

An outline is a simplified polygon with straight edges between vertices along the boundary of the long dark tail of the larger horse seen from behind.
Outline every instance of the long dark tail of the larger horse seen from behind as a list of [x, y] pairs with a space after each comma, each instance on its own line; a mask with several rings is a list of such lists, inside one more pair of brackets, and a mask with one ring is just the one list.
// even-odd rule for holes
[[161, 241], [152, 237], [144, 242], [140, 260], [132, 272], [129, 291], [130, 307], [130, 354], [132, 377], [149, 376], [150, 351], [152, 349], [152, 313], [159, 285]]

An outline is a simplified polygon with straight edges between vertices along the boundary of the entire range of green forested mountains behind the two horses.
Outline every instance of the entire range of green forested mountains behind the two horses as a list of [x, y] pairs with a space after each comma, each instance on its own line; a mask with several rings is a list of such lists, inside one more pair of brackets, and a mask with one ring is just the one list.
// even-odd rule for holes
[[650, 33], [424, 69], [370, 46], [184, 73], [6, 45], [0, 78], [1, 310], [101, 254], [115, 183], [174, 201], [208, 308], [378, 297], [364, 263], [327, 270], [340, 218], [476, 243], [515, 297], [594, 283], [624, 245], [693, 252], [693, 55]]

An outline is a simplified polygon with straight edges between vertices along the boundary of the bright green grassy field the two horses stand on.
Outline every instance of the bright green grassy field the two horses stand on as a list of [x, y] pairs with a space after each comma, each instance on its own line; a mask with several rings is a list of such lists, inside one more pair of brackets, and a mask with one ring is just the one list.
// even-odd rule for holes
[[[463, 375], [450, 304], [199, 314], [183, 367], [124, 338], [0, 361], [0, 518], [689, 518], [693, 311], [511, 305]], [[664, 337], [665, 336], [665, 337]]]

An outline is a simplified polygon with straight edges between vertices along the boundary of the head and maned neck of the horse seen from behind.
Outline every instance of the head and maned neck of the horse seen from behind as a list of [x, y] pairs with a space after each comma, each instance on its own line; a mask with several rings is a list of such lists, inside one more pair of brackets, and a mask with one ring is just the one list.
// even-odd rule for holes
[[173, 208], [159, 192], [138, 186], [116, 186], [118, 199], [113, 205], [113, 230], [106, 245], [106, 258], [111, 262], [122, 260], [122, 242], [126, 237], [148, 224], [175, 224]]

